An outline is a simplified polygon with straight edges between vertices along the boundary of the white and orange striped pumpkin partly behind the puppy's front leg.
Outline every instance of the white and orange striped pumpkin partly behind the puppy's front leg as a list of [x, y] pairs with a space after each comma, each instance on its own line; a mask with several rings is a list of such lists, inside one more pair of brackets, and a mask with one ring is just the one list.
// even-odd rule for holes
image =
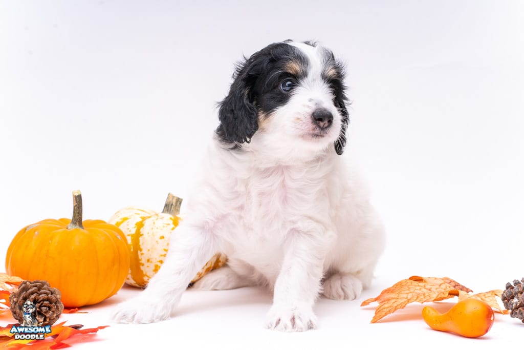
[[[130, 268], [126, 283], [134, 287], [145, 287], [157, 273], [166, 258], [171, 234], [176, 235], [180, 220], [182, 199], [171, 193], [161, 213], [154, 210], [126, 207], [118, 210], [108, 222], [120, 228], [128, 242]], [[217, 253], [196, 274], [194, 283], [211, 270], [221, 267], [227, 258]]]

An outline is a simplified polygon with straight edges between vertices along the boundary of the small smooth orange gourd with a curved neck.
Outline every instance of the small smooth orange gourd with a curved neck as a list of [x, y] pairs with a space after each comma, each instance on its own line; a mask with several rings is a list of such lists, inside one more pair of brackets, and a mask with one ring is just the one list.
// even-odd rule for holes
[[434, 330], [452, 332], [470, 338], [486, 334], [495, 320], [492, 307], [474, 298], [459, 301], [443, 314], [431, 306], [425, 306], [422, 309], [422, 317]]

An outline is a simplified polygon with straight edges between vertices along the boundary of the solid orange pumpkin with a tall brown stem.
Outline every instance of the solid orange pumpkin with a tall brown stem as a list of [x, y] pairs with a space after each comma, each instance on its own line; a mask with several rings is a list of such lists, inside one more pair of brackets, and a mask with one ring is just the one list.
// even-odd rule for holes
[[82, 222], [82, 197], [73, 192], [73, 217], [46, 219], [21, 229], [7, 249], [6, 271], [47, 280], [65, 307], [99, 303], [115, 294], [129, 270], [127, 240], [102, 220]]

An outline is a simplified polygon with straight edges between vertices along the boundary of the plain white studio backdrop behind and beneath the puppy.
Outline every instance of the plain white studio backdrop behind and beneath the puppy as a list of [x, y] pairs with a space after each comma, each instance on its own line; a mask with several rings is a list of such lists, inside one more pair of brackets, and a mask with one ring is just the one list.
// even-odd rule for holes
[[[417, 317], [369, 325], [372, 309], [358, 305], [413, 274], [446, 275], [475, 292], [524, 277], [518, 0], [0, 1], [0, 261], [20, 228], [70, 217], [73, 189], [82, 190], [84, 218], [105, 220], [128, 205], [160, 210], [168, 192], [186, 197], [233, 63], [288, 38], [319, 40], [347, 63], [346, 152], [362, 163], [388, 244], [372, 290], [357, 302], [320, 301], [319, 310], [333, 310], [317, 310], [321, 330], [271, 335], [272, 346], [353, 333], [364, 341], [369, 332], [377, 342], [380, 332], [462, 341], [428, 332]], [[114, 302], [126, 292], [135, 291]], [[188, 295], [198, 318], [186, 305], [172, 323], [147, 330], [192, 334], [192, 322], [209, 322], [232, 341], [253, 320], [242, 328], [253, 326], [251, 340], [269, 334], [261, 331], [270, 305], [263, 291]], [[198, 306], [213, 309], [217, 295], [228, 300], [222, 314]], [[518, 338], [518, 322], [499, 318], [492, 342]], [[100, 346], [131, 327], [108, 328]]]

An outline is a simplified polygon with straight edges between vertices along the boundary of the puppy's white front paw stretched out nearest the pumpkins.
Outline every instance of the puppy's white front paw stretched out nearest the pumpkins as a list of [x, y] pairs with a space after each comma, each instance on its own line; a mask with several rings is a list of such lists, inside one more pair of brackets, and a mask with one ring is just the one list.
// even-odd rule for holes
[[153, 323], [167, 320], [172, 308], [161, 300], [137, 298], [118, 304], [111, 319], [118, 323]]

